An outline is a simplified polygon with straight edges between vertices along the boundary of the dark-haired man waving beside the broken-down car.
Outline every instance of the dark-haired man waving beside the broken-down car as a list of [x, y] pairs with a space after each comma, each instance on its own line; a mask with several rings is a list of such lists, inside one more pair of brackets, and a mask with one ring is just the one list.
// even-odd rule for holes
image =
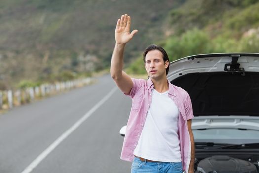
[[193, 173], [193, 118], [188, 93], [166, 78], [169, 58], [162, 47], [150, 45], [143, 54], [149, 79], [133, 79], [123, 68], [123, 53], [138, 30], [130, 33], [127, 14], [117, 21], [111, 77], [132, 98], [121, 159], [133, 161], [131, 173]]

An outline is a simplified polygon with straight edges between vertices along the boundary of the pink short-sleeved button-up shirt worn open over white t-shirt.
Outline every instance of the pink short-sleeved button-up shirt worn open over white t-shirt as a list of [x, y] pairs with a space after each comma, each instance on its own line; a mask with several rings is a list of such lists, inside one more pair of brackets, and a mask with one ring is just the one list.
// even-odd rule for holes
[[[121, 159], [133, 161], [133, 151], [138, 144], [140, 134], [146, 120], [147, 112], [152, 100], [154, 85], [151, 79], [132, 79], [133, 87], [129, 93], [132, 98], [132, 107], [127, 123], [127, 129], [123, 142]], [[188, 172], [191, 154], [190, 135], [187, 120], [192, 119], [192, 104], [189, 94], [182, 88], [171, 84], [169, 81], [168, 96], [175, 102], [179, 109], [178, 136], [182, 156], [183, 170]]]

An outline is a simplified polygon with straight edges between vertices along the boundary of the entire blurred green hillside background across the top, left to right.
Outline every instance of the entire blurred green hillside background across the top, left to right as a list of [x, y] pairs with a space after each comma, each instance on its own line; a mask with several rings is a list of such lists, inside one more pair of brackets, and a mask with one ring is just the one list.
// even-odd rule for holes
[[68, 80], [109, 67], [114, 27], [132, 17], [131, 73], [151, 43], [171, 60], [215, 52], [258, 52], [258, 0], [2, 0], [0, 90]]

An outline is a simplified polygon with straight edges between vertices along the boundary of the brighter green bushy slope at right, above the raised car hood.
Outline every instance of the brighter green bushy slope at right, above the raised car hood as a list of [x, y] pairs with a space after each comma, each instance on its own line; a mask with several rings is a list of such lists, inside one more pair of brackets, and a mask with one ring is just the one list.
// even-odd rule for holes
[[[170, 60], [202, 53], [259, 52], [258, 0], [186, 0], [167, 17], [156, 41]], [[128, 69], [145, 73], [141, 57]]]

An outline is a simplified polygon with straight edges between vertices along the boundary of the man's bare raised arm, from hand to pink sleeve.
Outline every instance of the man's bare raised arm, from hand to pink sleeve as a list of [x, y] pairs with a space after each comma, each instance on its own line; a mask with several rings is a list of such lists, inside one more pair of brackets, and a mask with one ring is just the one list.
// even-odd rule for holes
[[117, 26], [115, 29], [115, 48], [111, 58], [111, 77], [125, 94], [129, 94], [131, 88], [133, 87], [133, 82], [128, 74], [126, 74], [123, 69], [123, 54], [126, 43], [128, 43], [133, 36], [138, 32], [138, 30], [133, 30], [130, 33], [130, 16], [127, 14], [122, 15], [118, 19]]

